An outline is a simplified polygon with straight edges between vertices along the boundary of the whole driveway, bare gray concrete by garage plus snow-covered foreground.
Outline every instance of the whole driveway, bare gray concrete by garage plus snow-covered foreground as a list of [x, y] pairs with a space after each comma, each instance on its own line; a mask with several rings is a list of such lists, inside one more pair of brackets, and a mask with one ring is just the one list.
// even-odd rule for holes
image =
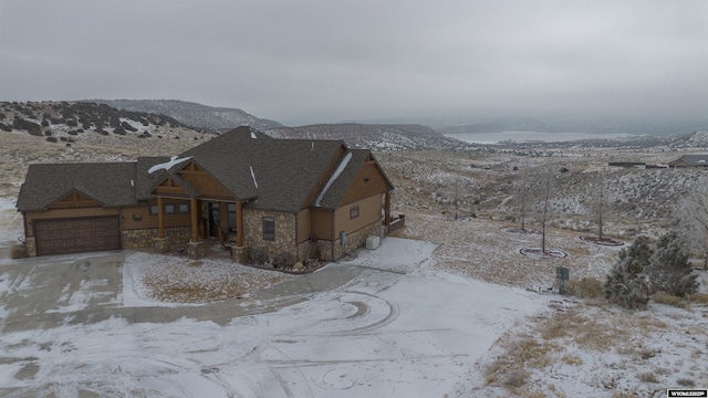
[[[441, 397], [550, 296], [376, 251], [243, 300], [123, 306], [124, 252], [0, 262], [3, 397]], [[467, 395], [467, 394], [465, 394]]]

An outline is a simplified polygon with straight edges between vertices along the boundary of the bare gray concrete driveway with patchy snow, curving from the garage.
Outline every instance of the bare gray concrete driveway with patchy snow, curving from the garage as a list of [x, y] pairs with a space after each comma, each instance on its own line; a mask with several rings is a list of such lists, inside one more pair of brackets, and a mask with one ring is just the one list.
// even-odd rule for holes
[[[166, 323], [188, 317], [226, 324], [233, 317], [277, 311], [315, 292], [341, 286], [363, 272], [326, 266], [241, 300], [173, 307], [123, 306], [123, 264], [129, 251], [41, 256], [0, 262], [0, 312], [3, 332], [90, 324], [110, 317], [129, 323]], [[7, 259], [7, 258], [6, 258]]]

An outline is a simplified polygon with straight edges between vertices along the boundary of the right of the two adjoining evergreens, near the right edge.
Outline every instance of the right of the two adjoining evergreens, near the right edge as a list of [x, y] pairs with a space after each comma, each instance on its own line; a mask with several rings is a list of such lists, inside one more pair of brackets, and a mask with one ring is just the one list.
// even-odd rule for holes
[[678, 297], [696, 293], [698, 282], [693, 272], [678, 233], [671, 231], [659, 238], [647, 268], [650, 292], [664, 291]]

